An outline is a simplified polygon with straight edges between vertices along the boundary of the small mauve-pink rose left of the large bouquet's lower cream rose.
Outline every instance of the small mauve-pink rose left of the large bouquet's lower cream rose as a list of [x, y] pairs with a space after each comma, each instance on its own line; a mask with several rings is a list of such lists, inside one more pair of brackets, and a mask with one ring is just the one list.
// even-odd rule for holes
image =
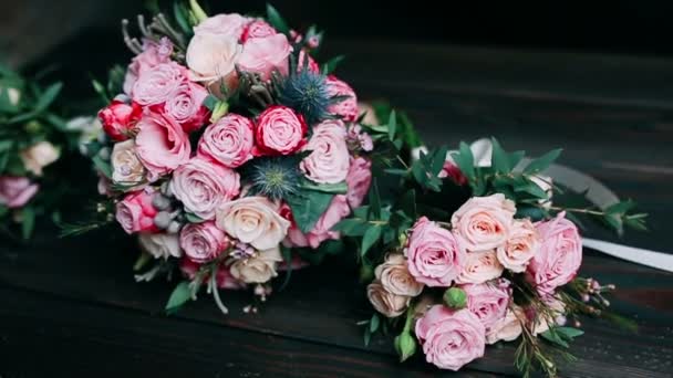
[[227, 235], [213, 221], [189, 223], [180, 231], [180, 248], [196, 263], [207, 263], [229, 246]]

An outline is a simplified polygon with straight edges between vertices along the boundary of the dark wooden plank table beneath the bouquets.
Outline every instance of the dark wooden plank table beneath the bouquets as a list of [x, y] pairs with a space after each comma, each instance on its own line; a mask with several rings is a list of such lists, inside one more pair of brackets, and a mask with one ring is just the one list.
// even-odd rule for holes
[[[74, 49], [51, 59], [68, 61]], [[381, 41], [332, 42], [332, 51], [349, 54], [341, 73], [362, 97], [387, 97], [408, 111], [431, 143], [494, 135], [531, 154], [565, 147], [561, 162], [651, 213], [652, 231], [629, 233], [624, 243], [671, 250], [673, 62]], [[114, 60], [110, 51], [101, 53]], [[87, 64], [65, 66], [72, 87], [83, 86]], [[206, 294], [179, 314], [164, 315], [172, 285], [136, 284], [134, 258], [130, 241], [103, 234], [56, 240], [44, 231], [28, 246], [3, 244], [0, 377], [449, 375], [421, 357], [398, 365], [391, 340], [363, 345], [355, 323], [371, 309], [349, 256], [294, 272], [288, 290], [275, 293], [259, 314], [242, 312], [247, 293], [227, 293], [227, 317]], [[640, 329], [586, 321], [587, 333], [573, 346], [579, 360], [561, 375], [671, 377], [673, 274], [593, 251], [586, 252], [582, 274], [615, 283], [613, 307]], [[489, 347], [462, 375], [516, 375], [512, 355], [512, 345]]]

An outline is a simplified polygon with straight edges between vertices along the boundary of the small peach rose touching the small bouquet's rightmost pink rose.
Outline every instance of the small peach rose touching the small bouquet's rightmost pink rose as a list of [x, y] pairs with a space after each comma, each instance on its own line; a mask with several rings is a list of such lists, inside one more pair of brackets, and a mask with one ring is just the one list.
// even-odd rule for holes
[[528, 219], [515, 220], [505, 245], [497, 249], [498, 260], [506, 269], [521, 273], [540, 245], [538, 232]]

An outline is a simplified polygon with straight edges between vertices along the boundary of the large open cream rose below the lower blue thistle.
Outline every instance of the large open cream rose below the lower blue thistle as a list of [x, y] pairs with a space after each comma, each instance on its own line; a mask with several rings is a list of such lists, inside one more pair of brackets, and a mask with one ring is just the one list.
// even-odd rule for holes
[[217, 212], [217, 227], [259, 251], [270, 250], [288, 234], [290, 222], [265, 197], [246, 197], [226, 202]]

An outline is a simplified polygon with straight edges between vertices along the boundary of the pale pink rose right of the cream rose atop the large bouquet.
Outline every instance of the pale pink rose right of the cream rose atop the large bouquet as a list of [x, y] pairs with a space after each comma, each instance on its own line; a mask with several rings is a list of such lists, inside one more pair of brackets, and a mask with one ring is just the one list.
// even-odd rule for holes
[[244, 44], [238, 65], [241, 71], [258, 73], [267, 81], [275, 70], [282, 75], [288, 74], [288, 56], [291, 52], [292, 46], [284, 34], [252, 38]]

